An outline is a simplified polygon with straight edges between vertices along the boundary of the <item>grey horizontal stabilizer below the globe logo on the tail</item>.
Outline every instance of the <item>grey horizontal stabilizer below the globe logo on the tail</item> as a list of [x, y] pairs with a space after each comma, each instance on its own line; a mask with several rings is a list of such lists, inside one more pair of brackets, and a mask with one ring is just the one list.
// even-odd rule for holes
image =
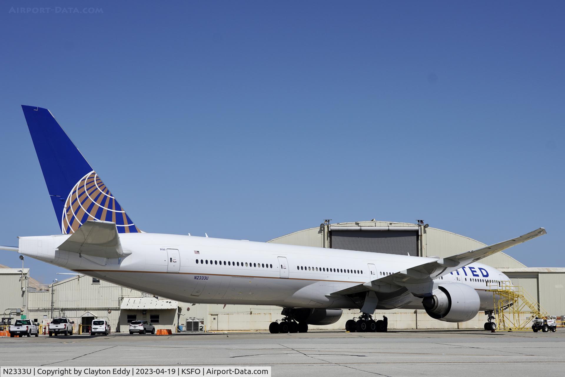
[[107, 221], [89, 220], [59, 245], [60, 250], [99, 258], [124, 256], [116, 224]]

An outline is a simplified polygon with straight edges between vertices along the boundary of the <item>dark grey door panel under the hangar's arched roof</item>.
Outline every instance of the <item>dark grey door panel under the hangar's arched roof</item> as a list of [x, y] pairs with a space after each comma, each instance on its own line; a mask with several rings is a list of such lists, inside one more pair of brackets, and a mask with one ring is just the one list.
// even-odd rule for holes
[[369, 231], [336, 228], [339, 227], [330, 228], [329, 239], [332, 249], [418, 256], [418, 227], [414, 227], [415, 230], [407, 231]]

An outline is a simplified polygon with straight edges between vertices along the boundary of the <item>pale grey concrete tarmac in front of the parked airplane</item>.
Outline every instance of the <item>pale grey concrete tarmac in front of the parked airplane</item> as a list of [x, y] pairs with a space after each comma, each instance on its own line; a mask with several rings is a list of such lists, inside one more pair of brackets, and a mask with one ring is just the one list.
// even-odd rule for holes
[[565, 329], [0, 337], [0, 366], [143, 365], [271, 366], [273, 376], [563, 376]]

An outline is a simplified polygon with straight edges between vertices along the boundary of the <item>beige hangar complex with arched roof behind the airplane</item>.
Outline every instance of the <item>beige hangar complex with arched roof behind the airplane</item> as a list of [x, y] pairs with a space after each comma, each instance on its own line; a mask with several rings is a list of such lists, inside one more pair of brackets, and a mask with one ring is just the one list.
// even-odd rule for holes
[[[485, 246], [469, 237], [429, 227], [423, 221], [413, 224], [375, 219], [334, 224], [326, 220], [319, 226], [267, 242], [440, 258]], [[481, 262], [503, 271], [550, 313], [565, 314], [565, 268], [527, 267], [505, 253]], [[273, 320], [282, 318], [279, 307], [177, 302], [84, 275], [41, 285], [30, 278], [27, 268], [24, 274], [17, 268], [4, 271], [0, 269], [0, 310], [21, 305], [24, 315], [40, 323], [54, 317], [69, 317], [75, 321], [75, 332], [88, 330], [94, 318], [107, 319], [114, 332], [127, 331], [129, 322], [136, 319], [148, 320], [157, 329], [188, 325], [191, 330], [230, 331], [266, 330]], [[25, 292], [23, 287], [27, 287]], [[345, 310], [338, 322], [318, 328], [344, 328], [345, 321], [356, 315], [358, 310]], [[485, 322], [484, 313], [462, 323], [434, 320], [424, 310], [375, 313], [376, 318], [382, 315], [388, 317], [389, 328], [483, 328]]]

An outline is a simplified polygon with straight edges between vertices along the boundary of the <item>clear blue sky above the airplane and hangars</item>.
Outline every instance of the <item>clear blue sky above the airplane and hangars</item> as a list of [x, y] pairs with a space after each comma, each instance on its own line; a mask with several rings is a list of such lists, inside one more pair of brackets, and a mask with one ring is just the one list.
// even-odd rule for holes
[[[564, 11], [3, 2], [0, 244], [59, 232], [20, 108], [33, 105], [144, 231], [266, 241], [323, 219], [424, 219], [490, 244], [546, 227], [509, 254], [565, 266]], [[26, 265], [44, 282], [63, 271]]]

